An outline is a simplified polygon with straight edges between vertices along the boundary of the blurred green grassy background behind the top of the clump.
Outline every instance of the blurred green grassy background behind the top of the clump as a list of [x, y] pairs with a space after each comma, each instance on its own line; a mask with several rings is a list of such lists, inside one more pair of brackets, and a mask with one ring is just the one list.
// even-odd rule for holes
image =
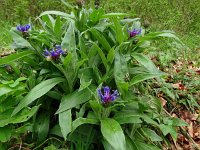
[[[80, 0], [77, 0], [80, 1]], [[77, 3], [70, 0], [71, 3]], [[0, 0], [1, 46], [10, 42], [7, 30], [19, 23], [32, 21], [43, 11], [68, 11], [61, 0]], [[87, 0], [89, 3], [89, 0]], [[100, 6], [107, 12], [128, 12], [139, 17], [143, 25], [155, 30], [173, 30], [183, 36], [191, 46], [199, 46], [200, 1], [198, 0], [101, 0]], [[191, 39], [192, 38], [192, 39]]]

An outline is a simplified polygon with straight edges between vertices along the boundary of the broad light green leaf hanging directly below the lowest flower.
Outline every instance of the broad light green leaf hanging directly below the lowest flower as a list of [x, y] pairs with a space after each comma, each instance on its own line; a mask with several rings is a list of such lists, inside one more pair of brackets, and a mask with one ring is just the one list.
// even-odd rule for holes
[[101, 132], [115, 150], [126, 150], [126, 141], [119, 123], [111, 118], [101, 120]]

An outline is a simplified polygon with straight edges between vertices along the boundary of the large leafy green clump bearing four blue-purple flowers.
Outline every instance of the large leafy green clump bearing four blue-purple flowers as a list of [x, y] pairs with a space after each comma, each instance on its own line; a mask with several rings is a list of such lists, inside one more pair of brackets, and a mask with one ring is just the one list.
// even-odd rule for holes
[[166, 75], [143, 54], [151, 41], [179, 39], [167, 31], [145, 34], [138, 19], [124, 19], [129, 14], [71, 8], [43, 12], [39, 30], [32, 23], [31, 30], [11, 29], [16, 53], [0, 64], [10, 65], [16, 81], [0, 84], [6, 91], [0, 103], [10, 107], [0, 115], [0, 129], [9, 131], [0, 146], [21, 145], [17, 136], [29, 148], [83, 150], [161, 149], [166, 136], [176, 140], [176, 126], [187, 124], [165, 117], [161, 102], [137, 88]]

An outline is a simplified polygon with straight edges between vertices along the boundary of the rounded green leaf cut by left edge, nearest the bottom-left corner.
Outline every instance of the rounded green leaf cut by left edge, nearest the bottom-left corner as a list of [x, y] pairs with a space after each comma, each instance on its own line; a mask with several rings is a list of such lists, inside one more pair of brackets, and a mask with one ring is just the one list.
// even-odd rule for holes
[[0, 128], [0, 141], [7, 142], [11, 137], [12, 129], [9, 127]]

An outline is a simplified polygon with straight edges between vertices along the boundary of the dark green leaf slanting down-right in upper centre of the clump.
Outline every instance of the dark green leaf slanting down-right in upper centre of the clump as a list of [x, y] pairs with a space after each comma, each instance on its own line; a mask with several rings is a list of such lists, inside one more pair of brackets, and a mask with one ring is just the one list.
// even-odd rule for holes
[[95, 28], [91, 28], [90, 31], [91, 31], [92, 35], [98, 40], [98, 42], [103, 46], [103, 48], [105, 48], [105, 50], [107, 52], [109, 52], [111, 47], [110, 47], [109, 42], [104, 37], [103, 33], [96, 30]]

